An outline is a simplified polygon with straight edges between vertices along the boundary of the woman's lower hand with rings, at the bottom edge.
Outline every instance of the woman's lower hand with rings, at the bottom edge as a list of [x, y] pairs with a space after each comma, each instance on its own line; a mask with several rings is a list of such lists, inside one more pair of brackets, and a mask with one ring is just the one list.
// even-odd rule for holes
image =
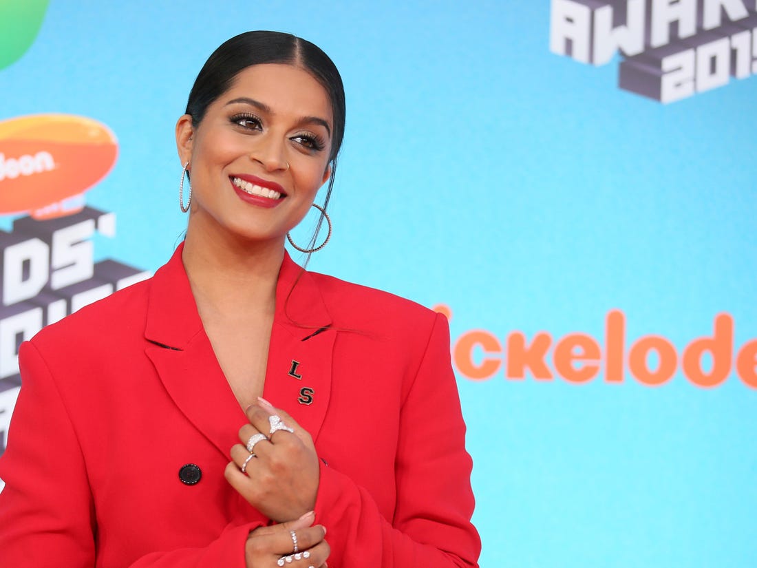
[[[316, 516], [313, 511], [297, 520], [272, 526], [261, 526], [250, 533], [245, 544], [247, 568], [327, 568], [326, 558], [331, 548], [326, 542], [326, 528], [311, 526]], [[294, 553], [294, 532], [298, 553]], [[286, 557], [291, 557], [287, 561]], [[283, 564], [279, 563], [279, 559]]]

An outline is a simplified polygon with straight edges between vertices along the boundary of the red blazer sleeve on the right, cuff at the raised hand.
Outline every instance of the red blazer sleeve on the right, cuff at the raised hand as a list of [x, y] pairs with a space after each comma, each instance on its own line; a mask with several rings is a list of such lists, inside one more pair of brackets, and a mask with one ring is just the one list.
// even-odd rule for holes
[[449, 326], [437, 314], [400, 412], [394, 518], [382, 517], [366, 489], [321, 464], [316, 522], [328, 531], [329, 566], [478, 566], [481, 540], [470, 522], [472, 460], [465, 432]]

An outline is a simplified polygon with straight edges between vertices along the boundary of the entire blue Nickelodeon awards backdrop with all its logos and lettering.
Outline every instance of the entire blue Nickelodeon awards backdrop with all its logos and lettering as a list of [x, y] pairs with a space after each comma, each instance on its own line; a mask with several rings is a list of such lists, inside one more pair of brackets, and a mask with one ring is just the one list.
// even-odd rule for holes
[[481, 566], [757, 566], [755, 0], [0, 1], [0, 451], [20, 342], [182, 239], [252, 29], [347, 89], [310, 269], [450, 320]]

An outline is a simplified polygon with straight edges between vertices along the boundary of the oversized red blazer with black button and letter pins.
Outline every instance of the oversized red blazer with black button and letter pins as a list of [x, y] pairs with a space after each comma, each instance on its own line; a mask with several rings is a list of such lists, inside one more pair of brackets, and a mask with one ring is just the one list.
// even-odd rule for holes
[[[248, 532], [269, 520], [223, 477], [247, 419], [181, 251], [22, 345], [0, 566], [245, 568]], [[328, 463], [315, 511], [332, 568], [477, 565], [449, 347], [443, 316], [285, 258], [263, 396]], [[179, 479], [188, 463], [195, 485]]]

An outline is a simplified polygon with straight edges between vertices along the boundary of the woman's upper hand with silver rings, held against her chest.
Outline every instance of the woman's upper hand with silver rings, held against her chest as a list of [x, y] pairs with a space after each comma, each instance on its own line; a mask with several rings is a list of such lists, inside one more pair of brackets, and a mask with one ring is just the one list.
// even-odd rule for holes
[[[246, 414], [250, 423], [239, 430], [241, 443], [231, 450], [233, 461], [226, 466], [226, 480], [269, 519], [279, 523], [298, 519], [316, 504], [319, 463], [313, 438], [291, 416], [266, 401], [252, 404]], [[271, 416], [280, 417], [294, 432], [279, 429], [269, 434]], [[246, 445], [259, 433], [266, 438], [254, 445], [255, 457], [248, 459]], [[241, 472], [243, 465], [245, 473]]]

